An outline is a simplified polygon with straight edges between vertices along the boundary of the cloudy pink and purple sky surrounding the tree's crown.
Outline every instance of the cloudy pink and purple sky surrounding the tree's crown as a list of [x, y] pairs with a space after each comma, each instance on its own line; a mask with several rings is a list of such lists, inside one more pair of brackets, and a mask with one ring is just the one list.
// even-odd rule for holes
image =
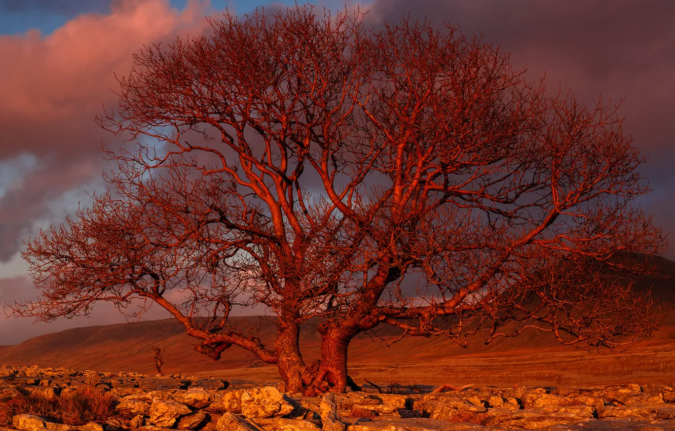
[[[261, 0], [0, 0], [0, 304], [34, 299], [22, 240], [86, 206], [105, 188], [101, 144], [117, 145], [94, 117], [115, 102], [113, 74], [124, 75], [142, 45], [202, 34], [206, 16], [225, 7], [292, 5]], [[369, 26], [403, 16], [512, 53], [529, 76], [571, 89], [587, 103], [622, 101], [624, 130], [649, 159], [641, 172], [653, 192], [639, 202], [666, 232], [675, 230], [675, 2], [670, 0], [372, 0], [315, 2], [367, 10]], [[347, 3], [347, 4], [345, 4]], [[675, 243], [665, 254], [675, 259]], [[148, 318], [164, 317], [158, 310]], [[91, 318], [53, 324], [0, 315], [0, 345], [74, 326], [124, 318], [99, 307]]]

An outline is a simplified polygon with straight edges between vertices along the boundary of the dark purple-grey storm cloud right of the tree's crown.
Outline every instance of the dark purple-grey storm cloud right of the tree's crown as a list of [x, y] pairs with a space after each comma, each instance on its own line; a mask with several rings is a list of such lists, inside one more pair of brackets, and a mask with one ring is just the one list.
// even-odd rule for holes
[[640, 203], [675, 231], [675, 2], [377, 0], [367, 21], [377, 27], [408, 14], [483, 34], [512, 53], [514, 66], [526, 64], [531, 79], [545, 73], [553, 91], [570, 89], [585, 103], [624, 99], [624, 132], [649, 158], [641, 173], [654, 189]]

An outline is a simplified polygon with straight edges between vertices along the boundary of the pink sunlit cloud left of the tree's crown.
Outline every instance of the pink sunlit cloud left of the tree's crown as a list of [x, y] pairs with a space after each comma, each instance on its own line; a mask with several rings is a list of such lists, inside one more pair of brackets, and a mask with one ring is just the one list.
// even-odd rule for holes
[[11, 64], [0, 69], [0, 165], [22, 157], [33, 165], [14, 178], [0, 176], [0, 260], [11, 259], [36, 220], [61, 215], [51, 203], [74, 189], [101, 187], [101, 142], [119, 143], [94, 118], [115, 101], [113, 72], [128, 72], [145, 43], [204, 32], [206, 7], [115, 1], [109, 14], [77, 16], [49, 36], [0, 36], [0, 55]]

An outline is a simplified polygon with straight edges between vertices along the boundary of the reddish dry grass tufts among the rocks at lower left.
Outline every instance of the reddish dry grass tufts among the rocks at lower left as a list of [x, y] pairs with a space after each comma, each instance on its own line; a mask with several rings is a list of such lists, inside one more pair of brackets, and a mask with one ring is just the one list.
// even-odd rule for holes
[[53, 422], [84, 425], [115, 414], [117, 399], [102, 390], [83, 386], [71, 394], [49, 399], [39, 393], [0, 399], [0, 426], [11, 428], [14, 415], [28, 413]]

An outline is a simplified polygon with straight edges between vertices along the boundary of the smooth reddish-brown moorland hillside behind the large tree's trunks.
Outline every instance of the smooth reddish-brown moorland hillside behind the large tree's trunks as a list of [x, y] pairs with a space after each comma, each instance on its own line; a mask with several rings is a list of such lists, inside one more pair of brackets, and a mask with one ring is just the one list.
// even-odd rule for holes
[[[668, 312], [664, 326], [652, 337], [625, 351], [586, 352], [559, 345], [549, 334], [530, 332], [462, 349], [446, 338], [408, 337], [388, 349], [368, 336], [350, 345], [350, 374], [380, 382], [440, 384], [591, 384], [611, 382], [672, 384], [675, 371], [675, 263], [658, 259], [658, 272], [641, 280]], [[263, 320], [268, 334], [271, 320]], [[392, 336], [394, 328], [379, 335]], [[309, 361], [319, 356], [316, 322], [302, 327], [302, 347]], [[167, 349], [165, 373], [275, 380], [275, 367], [238, 347], [213, 361], [196, 353], [190, 337], [175, 320], [88, 326], [36, 336], [16, 346], [0, 347], [0, 364], [69, 367], [109, 372], [153, 374], [152, 347]], [[672, 378], [675, 380], [675, 378]]]

